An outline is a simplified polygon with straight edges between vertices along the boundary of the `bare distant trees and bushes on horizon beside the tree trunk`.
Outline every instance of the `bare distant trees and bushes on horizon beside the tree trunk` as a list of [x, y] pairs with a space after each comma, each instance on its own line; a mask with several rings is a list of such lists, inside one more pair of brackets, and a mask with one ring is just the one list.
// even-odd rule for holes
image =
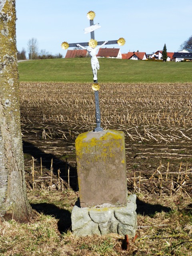
[[[36, 38], [31, 38], [28, 40], [27, 43], [27, 50], [28, 50], [28, 59], [29, 60], [43, 60], [43, 59], [58, 59], [58, 58], [63, 58], [62, 54], [51, 54], [50, 52], [47, 52], [45, 49], [40, 50], [38, 48], [38, 40]], [[27, 54], [26, 50], [22, 48], [21, 51], [17, 50], [17, 59], [18, 60], [26, 60], [27, 59]]]

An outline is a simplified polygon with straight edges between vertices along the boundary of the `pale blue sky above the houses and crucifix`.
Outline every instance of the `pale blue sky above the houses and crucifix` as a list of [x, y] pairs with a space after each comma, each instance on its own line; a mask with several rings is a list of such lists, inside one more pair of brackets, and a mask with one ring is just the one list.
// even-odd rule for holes
[[[176, 52], [192, 35], [192, 0], [16, 0], [17, 48], [27, 51], [27, 42], [38, 40], [39, 51], [63, 56], [61, 43], [88, 42], [87, 12], [94, 11], [97, 41], [125, 38], [122, 53], [162, 50]], [[107, 46], [116, 47], [111, 45]], [[69, 48], [72, 49], [72, 48]]]

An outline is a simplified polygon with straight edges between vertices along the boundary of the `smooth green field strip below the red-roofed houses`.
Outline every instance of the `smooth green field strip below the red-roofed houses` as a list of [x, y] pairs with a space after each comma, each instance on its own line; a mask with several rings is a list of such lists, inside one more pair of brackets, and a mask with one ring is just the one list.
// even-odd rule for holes
[[[192, 82], [192, 62], [150, 62], [100, 58], [99, 82]], [[90, 58], [18, 63], [20, 81], [92, 82]]]

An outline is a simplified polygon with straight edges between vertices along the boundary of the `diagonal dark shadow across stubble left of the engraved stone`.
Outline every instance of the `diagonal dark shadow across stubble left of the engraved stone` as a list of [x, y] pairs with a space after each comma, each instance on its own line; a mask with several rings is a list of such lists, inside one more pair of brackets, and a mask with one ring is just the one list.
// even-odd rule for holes
[[67, 173], [69, 168], [70, 173], [70, 187], [76, 191], [77, 189], [77, 178], [76, 178], [76, 168], [66, 163], [66, 161], [60, 160], [54, 154], [45, 153], [40, 150], [38, 147], [34, 146], [30, 142], [26, 142], [23, 140], [23, 152], [26, 154], [30, 154], [34, 158], [37, 159], [38, 164], [40, 165], [40, 158], [42, 158], [42, 165], [50, 171], [51, 159], [53, 159], [53, 172], [58, 175], [58, 169], [60, 169], [60, 177], [68, 182]]

